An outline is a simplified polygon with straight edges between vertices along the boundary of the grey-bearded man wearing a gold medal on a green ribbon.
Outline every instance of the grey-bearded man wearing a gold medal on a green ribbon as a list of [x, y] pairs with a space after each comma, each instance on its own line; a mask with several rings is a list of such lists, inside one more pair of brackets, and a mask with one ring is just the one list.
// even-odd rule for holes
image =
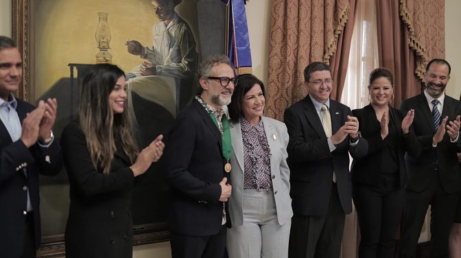
[[226, 105], [237, 79], [226, 56], [200, 65], [202, 93], [176, 119], [165, 148], [172, 257], [224, 257], [231, 134]]

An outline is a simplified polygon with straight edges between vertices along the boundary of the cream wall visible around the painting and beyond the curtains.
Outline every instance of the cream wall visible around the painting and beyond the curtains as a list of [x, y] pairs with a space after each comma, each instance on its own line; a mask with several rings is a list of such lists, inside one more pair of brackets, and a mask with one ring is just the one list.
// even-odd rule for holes
[[[265, 84], [268, 80], [268, 41], [270, 27], [270, 0], [253, 0], [247, 5], [248, 30], [252, 52], [253, 73]], [[461, 43], [459, 24], [461, 1], [445, 1], [446, 59], [452, 66], [447, 94], [458, 98], [461, 93]], [[0, 0], [0, 34], [11, 36], [11, 0]], [[427, 237], [429, 237], [427, 235]], [[425, 241], [426, 237], [420, 239]], [[169, 243], [134, 247], [134, 257], [171, 257]]]

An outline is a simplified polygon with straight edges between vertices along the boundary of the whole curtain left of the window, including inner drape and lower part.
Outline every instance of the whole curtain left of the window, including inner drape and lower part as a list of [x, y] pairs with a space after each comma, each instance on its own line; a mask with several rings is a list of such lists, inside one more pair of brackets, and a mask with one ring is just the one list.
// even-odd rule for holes
[[[331, 98], [340, 99], [354, 11], [355, 0], [272, 0], [266, 115], [283, 120], [285, 109], [307, 95], [303, 71], [314, 61], [330, 64]], [[346, 216], [342, 257], [357, 257], [357, 228], [354, 210]]]

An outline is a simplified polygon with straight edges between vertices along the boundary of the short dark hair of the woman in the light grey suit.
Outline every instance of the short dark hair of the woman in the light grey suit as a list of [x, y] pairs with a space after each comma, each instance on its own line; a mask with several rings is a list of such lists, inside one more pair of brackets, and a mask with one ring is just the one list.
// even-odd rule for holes
[[228, 104], [229, 116], [232, 121], [239, 121], [241, 117], [244, 117], [244, 112], [241, 108], [241, 104], [244, 102], [244, 96], [250, 89], [259, 84], [265, 97], [264, 84], [255, 75], [245, 73], [237, 76], [239, 83], [235, 86], [234, 92], [232, 93], [231, 104]]

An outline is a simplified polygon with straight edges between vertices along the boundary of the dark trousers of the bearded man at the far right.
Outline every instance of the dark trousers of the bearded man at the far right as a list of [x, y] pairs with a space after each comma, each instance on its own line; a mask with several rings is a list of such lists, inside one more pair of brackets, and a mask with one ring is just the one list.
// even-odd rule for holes
[[431, 183], [421, 192], [405, 189], [401, 246], [399, 257], [416, 257], [418, 238], [425, 214], [431, 205], [431, 257], [448, 257], [448, 238], [458, 202], [458, 193], [446, 193], [437, 173]]

